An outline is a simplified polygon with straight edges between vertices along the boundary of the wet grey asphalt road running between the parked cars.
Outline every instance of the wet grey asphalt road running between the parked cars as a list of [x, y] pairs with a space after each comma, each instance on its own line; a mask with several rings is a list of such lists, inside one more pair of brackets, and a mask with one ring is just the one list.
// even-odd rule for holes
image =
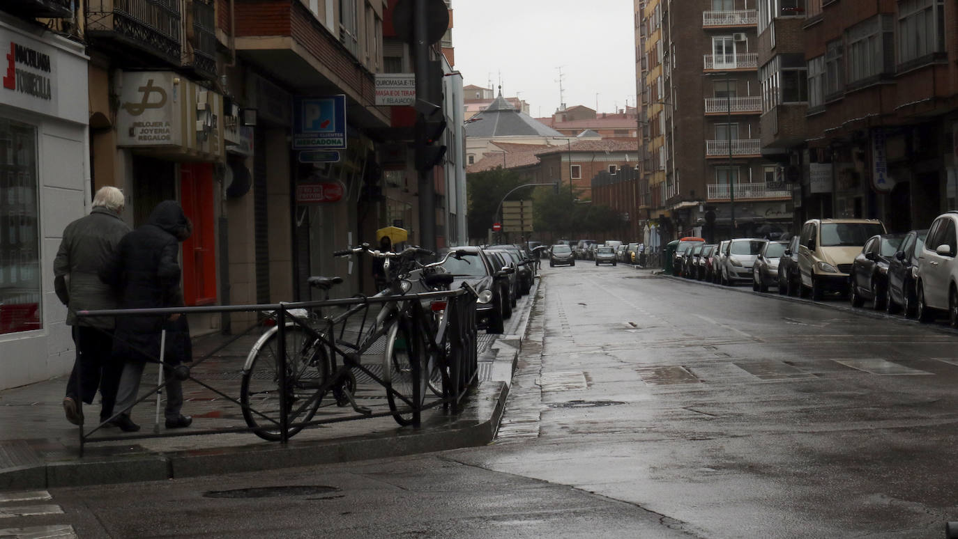
[[[958, 520], [958, 333], [625, 265], [542, 274], [488, 447], [54, 502], [80, 537], [910, 538]], [[334, 490], [204, 496], [288, 485]]]

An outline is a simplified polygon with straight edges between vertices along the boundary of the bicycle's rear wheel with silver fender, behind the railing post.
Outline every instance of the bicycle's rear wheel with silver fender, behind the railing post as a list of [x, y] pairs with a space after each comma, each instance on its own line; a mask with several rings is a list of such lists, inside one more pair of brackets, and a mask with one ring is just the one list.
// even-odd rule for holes
[[[285, 327], [286, 384], [285, 399], [288, 424], [304, 423], [312, 419], [325, 391], [320, 389], [329, 378], [328, 353], [304, 328]], [[280, 350], [279, 331], [264, 333], [250, 350], [243, 370], [239, 402], [246, 425], [257, 429], [256, 435], [276, 441], [280, 432]], [[291, 437], [303, 430], [302, 426], [288, 427]]]

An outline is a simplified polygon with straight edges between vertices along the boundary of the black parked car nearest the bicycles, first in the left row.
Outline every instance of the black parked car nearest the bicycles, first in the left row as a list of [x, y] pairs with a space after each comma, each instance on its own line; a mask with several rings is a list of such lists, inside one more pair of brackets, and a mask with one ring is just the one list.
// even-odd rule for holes
[[479, 247], [456, 247], [459, 257], [446, 258], [443, 268], [456, 279], [450, 289], [458, 288], [463, 281], [471, 284], [479, 298], [476, 300], [476, 321], [489, 333], [502, 333], [506, 329], [505, 311], [509, 304], [509, 271], [496, 268], [489, 256]]

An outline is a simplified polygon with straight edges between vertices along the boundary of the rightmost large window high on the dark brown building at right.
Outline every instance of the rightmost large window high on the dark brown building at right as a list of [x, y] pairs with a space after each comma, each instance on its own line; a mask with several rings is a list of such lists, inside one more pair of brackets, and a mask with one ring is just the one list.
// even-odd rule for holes
[[899, 63], [945, 51], [945, 6], [942, 0], [899, 2]]

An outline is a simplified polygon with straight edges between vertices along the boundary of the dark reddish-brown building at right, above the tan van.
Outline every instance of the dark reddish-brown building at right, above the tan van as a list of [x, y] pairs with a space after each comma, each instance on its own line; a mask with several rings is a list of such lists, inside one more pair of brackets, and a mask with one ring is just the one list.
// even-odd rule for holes
[[[954, 209], [958, 7], [763, 0], [760, 11], [770, 80], [763, 145], [787, 163], [797, 213], [879, 218], [904, 232]], [[806, 96], [774, 78], [788, 70], [807, 74]]]

